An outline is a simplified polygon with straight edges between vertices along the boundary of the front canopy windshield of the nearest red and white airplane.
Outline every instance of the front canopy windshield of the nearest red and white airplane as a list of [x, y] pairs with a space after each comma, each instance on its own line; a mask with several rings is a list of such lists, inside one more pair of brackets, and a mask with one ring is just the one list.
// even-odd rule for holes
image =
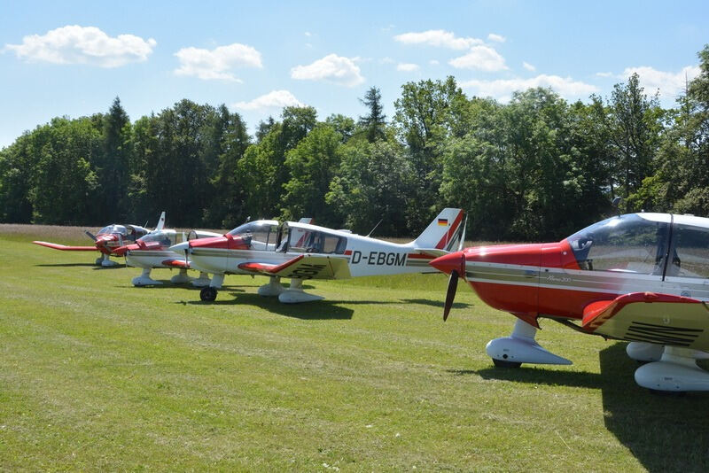
[[639, 215], [599, 221], [567, 238], [581, 269], [662, 275], [669, 224]]

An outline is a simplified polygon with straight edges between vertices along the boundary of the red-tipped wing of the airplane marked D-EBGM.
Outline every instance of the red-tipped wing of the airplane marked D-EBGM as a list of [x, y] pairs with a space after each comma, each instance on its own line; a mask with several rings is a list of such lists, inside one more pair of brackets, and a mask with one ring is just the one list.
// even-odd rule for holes
[[335, 255], [299, 254], [292, 260], [279, 265], [246, 261], [238, 265], [238, 268], [259, 275], [300, 279], [347, 279], [350, 277], [347, 259]]

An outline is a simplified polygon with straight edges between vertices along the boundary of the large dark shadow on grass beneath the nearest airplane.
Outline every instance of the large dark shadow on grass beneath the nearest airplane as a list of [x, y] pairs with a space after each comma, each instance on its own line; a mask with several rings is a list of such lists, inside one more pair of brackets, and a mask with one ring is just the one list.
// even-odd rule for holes
[[[648, 471], [709, 470], [709, 393], [685, 396], [653, 394], [635, 384], [636, 361], [626, 344], [599, 353], [601, 373], [547, 368], [449, 370], [458, 376], [517, 383], [564, 385], [601, 390], [605, 427]], [[602, 459], [599, 459], [602, 460]]]

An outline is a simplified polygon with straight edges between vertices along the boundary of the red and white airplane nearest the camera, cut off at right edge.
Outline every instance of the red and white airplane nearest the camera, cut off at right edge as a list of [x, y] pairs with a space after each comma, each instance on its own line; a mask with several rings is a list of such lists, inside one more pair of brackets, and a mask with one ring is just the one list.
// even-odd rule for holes
[[489, 306], [515, 315], [510, 337], [487, 344], [496, 366], [571, 364], [536, 341], [539, 319], [628, 340], [651, 361], [635, 381], [656, 391], [709, 391], [709, 219], [631, 213], [557, 243], [479, 246], [431, 261], [450, 275], [443, 320], [458, 278]]

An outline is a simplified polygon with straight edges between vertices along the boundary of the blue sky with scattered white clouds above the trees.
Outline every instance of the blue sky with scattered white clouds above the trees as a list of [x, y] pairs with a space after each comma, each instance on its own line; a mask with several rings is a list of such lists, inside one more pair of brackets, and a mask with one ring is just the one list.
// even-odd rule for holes
[[709, 2], [10, 2], [0, 0], [0, 146], [52, 117], [131, 120], [182, 98], [226, 104], [253, 130], [284, 105], [385, 112], [407, 81], [456, 77], [509, 100], [551, 86], [610, 96], [639, 72], [674, 105], [709, 43]]

